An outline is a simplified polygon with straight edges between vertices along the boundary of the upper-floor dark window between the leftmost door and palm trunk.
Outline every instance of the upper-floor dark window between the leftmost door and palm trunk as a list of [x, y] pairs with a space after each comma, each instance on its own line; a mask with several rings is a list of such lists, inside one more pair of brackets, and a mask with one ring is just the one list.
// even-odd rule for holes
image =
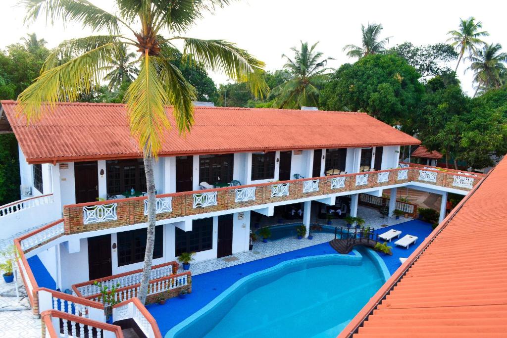
[[132, 188], [138, 192], [146, 191], [142, 159], [106, 161], [105, 166], [108, 195], [120, 195]]

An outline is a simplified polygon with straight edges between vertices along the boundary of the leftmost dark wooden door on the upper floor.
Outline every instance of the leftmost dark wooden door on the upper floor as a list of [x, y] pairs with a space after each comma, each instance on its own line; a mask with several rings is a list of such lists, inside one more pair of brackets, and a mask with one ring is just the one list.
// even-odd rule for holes
[[74, 164], [76, 203], [96, 202], [98, 198], [97, 162]]

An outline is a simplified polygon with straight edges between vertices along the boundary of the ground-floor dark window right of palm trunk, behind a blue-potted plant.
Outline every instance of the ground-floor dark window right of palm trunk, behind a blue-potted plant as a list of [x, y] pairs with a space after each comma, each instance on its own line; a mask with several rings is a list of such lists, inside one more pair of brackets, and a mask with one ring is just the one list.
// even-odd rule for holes
[[196, 219], [192, 222], [192, 231], [176, 228], [176, 252], [198, 252], [213, 247], [213, 218]]

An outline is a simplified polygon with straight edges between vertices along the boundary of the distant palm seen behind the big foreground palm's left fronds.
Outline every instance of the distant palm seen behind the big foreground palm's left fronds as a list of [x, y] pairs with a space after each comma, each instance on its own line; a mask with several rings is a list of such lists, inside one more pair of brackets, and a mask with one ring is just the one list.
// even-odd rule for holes
[[118, 89], [123, 82], [132, 82], [139, 73], [139, 69], [135, 66], [138, 63], [137, 56], [134, 52], [128, 52], [127, 45], [120, 45], [116, 50], [116, 55], [112, 60], [112, 65], [106, 67], [109, 72], [105, 75], [104, 80], [109, 81], [109, 89]]

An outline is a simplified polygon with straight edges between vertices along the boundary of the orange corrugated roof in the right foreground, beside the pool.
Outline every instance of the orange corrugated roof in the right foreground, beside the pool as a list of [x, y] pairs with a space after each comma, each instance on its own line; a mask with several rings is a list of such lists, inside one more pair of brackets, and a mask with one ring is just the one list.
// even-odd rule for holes
[[339, 337], [507, 337], [506, 181], [504, 158]]

